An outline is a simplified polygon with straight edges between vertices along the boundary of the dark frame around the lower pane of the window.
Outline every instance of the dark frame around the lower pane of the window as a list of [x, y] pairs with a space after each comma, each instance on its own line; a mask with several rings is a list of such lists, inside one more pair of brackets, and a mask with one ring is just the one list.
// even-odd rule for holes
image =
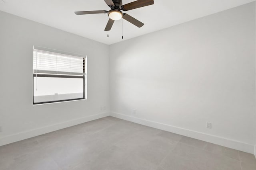
[[73, 75], [61, 75], [61, 74], [33, 74], [33, 88], [34, 88], [34, 77], [55, 77], [55, 78], [82, 78], [83, 79], [83, 97], [75, 99], [66, 99], [66, 100], [54, 100], [48, 102], [34, 102], [34, 89], [33, 89], [33, 105], [37, 104], [48, 104], [48, 103], [58, 103], [58, 102], [67, 102], [74, 100], [84, 100], [85, 99], [85, 75], [83, 76], [73, 76]]

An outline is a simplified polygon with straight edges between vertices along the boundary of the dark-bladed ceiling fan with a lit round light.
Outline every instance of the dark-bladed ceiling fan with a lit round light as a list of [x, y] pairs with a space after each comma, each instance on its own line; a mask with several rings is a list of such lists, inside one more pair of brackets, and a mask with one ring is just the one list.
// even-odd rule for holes
[[[79, 11], [75, 12], [76, 15], [85, 15], [85, 14], [106, 14], [108, 13], [109, 20], [106, 25], [105, 31], [110, 31], [114, 21], [120, 20], [123, 18], [124, 20], [136, 25], [137, 27], [142, 27], [144, 23], [136, 20], [132, 16], [122, 13], [122, 11], [133, 10], [136, 8], [141, 8], [148, 5], [153, 5], [154, 0], [137, 0], [134, 2], [130, 2], [128, 4], [123, 5], [122, 0], [104, 0], [106, 4], [110, 7], [109, 11]], [[121, 11], [122, 10], [122, 11]]]

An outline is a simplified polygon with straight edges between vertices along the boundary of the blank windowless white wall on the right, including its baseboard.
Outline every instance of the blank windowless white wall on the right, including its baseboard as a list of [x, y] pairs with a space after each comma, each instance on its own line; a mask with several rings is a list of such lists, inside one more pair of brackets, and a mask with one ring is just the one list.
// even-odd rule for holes
[[110, 99], [116, 117], [253, 153], [255, 2], [110, 45]]

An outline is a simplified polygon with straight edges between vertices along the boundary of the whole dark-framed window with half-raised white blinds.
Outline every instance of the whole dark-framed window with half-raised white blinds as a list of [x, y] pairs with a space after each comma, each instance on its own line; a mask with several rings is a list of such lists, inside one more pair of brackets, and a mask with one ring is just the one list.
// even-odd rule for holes
[[86, 98], [86, 56], [34, 47], [33, 104]]

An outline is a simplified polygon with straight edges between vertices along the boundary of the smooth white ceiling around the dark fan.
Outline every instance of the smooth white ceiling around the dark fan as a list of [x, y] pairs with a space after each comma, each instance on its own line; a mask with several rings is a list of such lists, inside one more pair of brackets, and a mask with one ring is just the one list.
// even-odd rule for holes
[[[123, 4], [133, 1], [123, 0]], [[252, 1], [255, 0], [154, 0], [154, 5], [125, 12], [145, 25], [138, 28], [124, 20], [124, 39], [122, 20], [114, 23], [107, 37], [107, 32], [104, 31], [107, 14], [74, 14], [74, 11], [109, 10], [104, 0], [0, 0], [0, 10], [112, 44]]]

